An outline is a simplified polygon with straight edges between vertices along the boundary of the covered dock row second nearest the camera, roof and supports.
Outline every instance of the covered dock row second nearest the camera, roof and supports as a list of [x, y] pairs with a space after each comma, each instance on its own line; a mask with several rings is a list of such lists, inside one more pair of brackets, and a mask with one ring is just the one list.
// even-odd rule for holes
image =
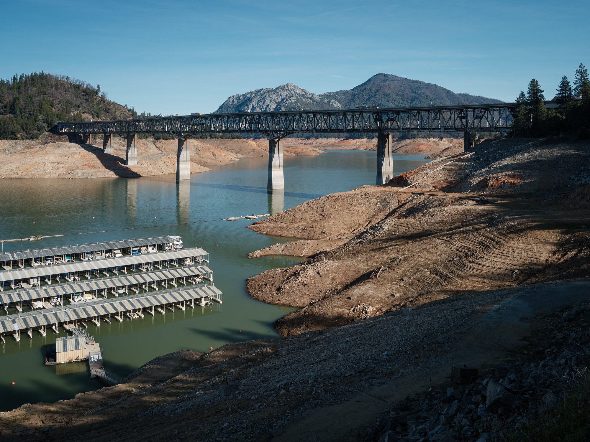
[[[191, 262], [192, 263], [192, 262]], [[151, 272], [136, 273], [133, 275], [111, 276], [110, 278], [91, 279], [90, 281], [63, 283], [48, 285], [42, 288], [31, 288], [0, 294], [1, 308], [8, 314], [8, 309], [14, 306], [19, 311], [22, 304], [32, 301], [43, 301], [51, 298], [58, 298], [64, 304], [64, 298], [76, 294], [91, 294], [94, 296], [107, 297], [107, 293], [118, 296], [117, 290], [124, 290], [139, 293], [142, 289], [149, 292], [149, 289], [158, 290], [158, 286], [168, 288], [168, 285], [178, 286], [179, 283], [196, 284], [212, 280], [212, 271], [205, 265], [190, 266], [186, 268], [158, 270]], [[199, 278], [199, 279], [198, 279]], [[152, 292], [153, 292], [152, 290]], [[0, 316], [1, 318], [1, 316]]]

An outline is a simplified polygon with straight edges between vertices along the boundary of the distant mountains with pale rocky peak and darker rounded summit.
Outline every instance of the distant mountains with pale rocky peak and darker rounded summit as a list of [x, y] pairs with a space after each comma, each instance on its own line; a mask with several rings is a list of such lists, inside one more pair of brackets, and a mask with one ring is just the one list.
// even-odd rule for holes
[[349, 109], [356, 106], [405, 107], [444, 104], [501, 103], [480, 95], [455, 94], [436, 84], [391, 74], [376, 74], [351, 90], [313, 94], [293, 83], [235, 94], [217, 113]]

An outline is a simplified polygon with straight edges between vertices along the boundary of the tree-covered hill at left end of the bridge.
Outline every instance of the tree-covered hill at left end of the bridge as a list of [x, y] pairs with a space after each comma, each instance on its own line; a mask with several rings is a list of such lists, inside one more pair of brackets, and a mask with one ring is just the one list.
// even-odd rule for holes
[[84, 81], [33, 72], [0, 79], [0, 138], [38, 138], [57, 121], [114, 120], [137, 116]]

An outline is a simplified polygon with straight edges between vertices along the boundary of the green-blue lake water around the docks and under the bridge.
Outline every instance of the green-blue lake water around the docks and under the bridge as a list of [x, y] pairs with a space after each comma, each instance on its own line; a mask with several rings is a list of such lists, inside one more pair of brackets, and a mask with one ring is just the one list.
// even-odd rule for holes
[[[424, 164], [423, 158], [395, 156], [395, 173]], [[150, 359], [180, 349], [204, 351], [228, 342], [278, 337], [273, 322], [294, 309], [254, 301], [245, 291], [245, 279], [299, 260], [248, 259], [253, 250], [289, 239], [254, 233], [245, 228], [251, 223], [248, 220], [222, 219], [277, 213], [329, 193], [375, 184], [375, 163], [374, 151], [330, 150], [313, 157], [286, 156], [286, 189], [271, 193], [266, 189], [267, 157], [212, 166], [213, 170], [194, 174], [180, 184], [173, 175], [0, 180], [0, 239], [65, 235], [39, 242], [4, 243], [6, 252], [180, 235], [186, 248], [201, 246], [211, 254], [208, 266], [215, 286], [224, 293], [222, 305], [167, 311], [166, 315], [156, 312], [134, 321], [101, 322], [100, 327], [89, 323], [90, 334], [103, 349], [105, 369], [123, 377]], [[58, 336], [65, 335], [60, 328]], [[87, 362], [45, 367], [44, 348], [55, 344], [55, 337], [48, 330], [46, 337], [35, 332], [32, 339], [22, 334], [20, 342], [8, 336], [6, 344], [0, 343], [0, 411], [25, 403], [67, 399], [103, 386], [102, 381], [90, 379]]]

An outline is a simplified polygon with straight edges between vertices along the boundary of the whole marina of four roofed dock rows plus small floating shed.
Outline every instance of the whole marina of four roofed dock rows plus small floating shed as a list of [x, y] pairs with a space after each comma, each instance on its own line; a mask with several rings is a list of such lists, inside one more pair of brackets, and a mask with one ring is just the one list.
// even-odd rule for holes
[[[123, 252], [127, 255], [123, 256]], [[92, 260], [86, 260], [89, 254], [93, 254]], [[110, 258], [113, 255], [117, 257]], [[53, 259], [61, 256], [67, 262], [47, 265], [48, 256]], [[76, 262], [77, 258], [83, 262]], [[39, 268], [0, 271], [0, 287], [4, 288], [7, 283], [12, 289], [0, 294], [0, 304], [6, 312], [0, 316], [2, 342], [6, 342], [7, 335], [20, 341], [21, 332], [32, 339], [35, 331], [45, 337], [47, 329], [57, 335], [59, 326], [75, 331], [80, 324], [87, 328], [89, 321], [100, 326], [101, 321], [110, 324], [112, 319], [123, 322], [124, 316], [133, 320], [146, 314], [153, 316], [156, 311], [165, 314], [166, 309], [175, 311], [176, 308], [184, 310], [186, 306], [195, 308], [195, 305], [222, 303], [221, 291], [213, 286], [213, 272], [202, 265], [209, 262], [208, 253], [201, 248], [184, 249], [179, 236], [19, 250], [4, 253], [1, 259], [8, 265], [22, 263], [25, 259], [32, 262], [40, 259], [44, 263]], [[158, 270], [154, 271], [154, 267]], [[111, 273], [116, 276], [110, 276]], [[89, 281], [80, 281], [82, 277]], [[62, 279], [67, 282], [62, 283]], [[57, 285], [52, 286], [52, 281]], [[42, 283], [45, 283], [43, 287]], [[34, 289], [33, 285], [39, 288]], [[129, 295], [129, 292], [135, 294]], [[30, 311], [24, 311], [26, 303]], [[9, 314], [11, 308], [17, 313]], [[57, 354], [60, 354], [59, 345], [63, 344], [66, 353], [76, 354], [68, 357], [71, 361], [79, 360], [83, 350], [90, 351], [86, 345], [97, 345], [86, 342], [87, 338], [84, 338], [84, 348], [77, 338], [62, 341], [59, 341]], [[68, 349], [68, 345], [73, 349]], [[96, 358], [94, 362], [102, 359], [98, 348], [92, 353]]]

